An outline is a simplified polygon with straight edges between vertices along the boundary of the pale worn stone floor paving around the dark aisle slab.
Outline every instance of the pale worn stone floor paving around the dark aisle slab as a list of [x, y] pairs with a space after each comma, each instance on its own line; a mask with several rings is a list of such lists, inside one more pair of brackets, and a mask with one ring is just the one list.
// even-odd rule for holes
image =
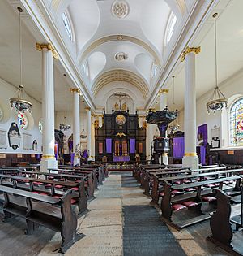
[[[131, 176], [131, 172], [126, 172], [127, 175]], [[151, 201], [150, 197], [143, 195], [143, 190], [132, 177], [126, 180], [126, 184], [122, 182], [122, 174], [118, 171], [109, 174], [95, 196], [96, 199], [88, 205], [91, 211], [79, 218], [78, 231], [85, 234], [85, 237], [68, 249], [67, 256], [122, 256], [122, 206], [146, 206]], [[230, 255], [205, 240], [208, 225], [203, 223], [198, 228], [194, 226], [181, 232], [173, 228], [170, 230], [189, 256]], [[57, 233], [38, 255], [58, 255], [60, 242], [61, 237]]]

